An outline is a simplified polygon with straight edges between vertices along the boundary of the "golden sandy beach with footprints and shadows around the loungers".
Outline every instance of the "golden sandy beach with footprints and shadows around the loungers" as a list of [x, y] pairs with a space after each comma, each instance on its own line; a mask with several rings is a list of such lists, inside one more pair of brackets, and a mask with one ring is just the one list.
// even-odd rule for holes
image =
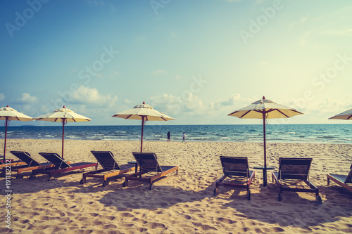
[[[134, 160], [138, 141], [65, 141], [65, 160], [96, 162], [90, 150], [109, 150], [119, 164]], [[4, 143], [0, 144], [0, 148]], [[61, 141], [8, 139], [9, 151], [58, 152]], [[35, 180], [11, 178], [11, 228], [6, 228], [5, 179], [1, 181], [0, 233], [352, 233], [352, 193], [331, 183], [326, 174], [347, 174], [352, 145], [268, 143], [268, 166], [278, 167], [279, 157], [312, 157], [310, 181], [320, 189], [322, 204], [311, 193], [278, 190], [268, 174], [256, 171], [251, 200], [246, 191], [220, 188], [213, 197], [215, 181], [222, 175], [219, 156], [249, 157], [249, 167], [263, 166], [262, 143], [144, 142], [144, 152], [156, 152], [162, 165], [177, 165], [149, 190], [146, 183], [124, 178], [102, 187], [101, 179], [88, 178], [80, 185], [82, 172], [47, 176]], [[86, 169], [85, 171], [92, 170]]]

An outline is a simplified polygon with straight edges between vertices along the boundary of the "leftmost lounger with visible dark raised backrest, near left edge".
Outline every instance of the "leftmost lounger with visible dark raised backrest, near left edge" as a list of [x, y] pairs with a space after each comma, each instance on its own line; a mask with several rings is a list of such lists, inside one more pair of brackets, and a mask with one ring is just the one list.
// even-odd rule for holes
[[10, 152], [11, 152], [11, 154], [15, 155], [15, 157], [18, 157], [18, 159], [25, 162], [25, 164], [11, 167], [11, 172], [17, 171], [16, 178], [23, 178], [23, 175], [22, 175], [23, 171], [32, 171], [35, 169], [44, 169], [46, 167], [54, 167], [55, 166], [54, 164], [52, 164], [50, 162], [46, 162], [43, 164], [41, 164], [40, 162], [37, 162], [32, 157], [30, 157], [29, 152], [25, 152], [25, 151], [10, 151]]

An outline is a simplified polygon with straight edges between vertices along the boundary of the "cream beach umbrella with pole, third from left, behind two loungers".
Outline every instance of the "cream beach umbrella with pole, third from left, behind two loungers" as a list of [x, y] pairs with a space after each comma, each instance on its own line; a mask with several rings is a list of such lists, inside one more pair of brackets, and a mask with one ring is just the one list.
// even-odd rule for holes
[[146, 121], [168, 121], [174, 118], [163, 114], [158, 110], [154, 110], [151, 105], [143, 102], [141, 105], [136, 105], [133, 109], [119, 112], [112, 117], [119, 117], [122, 119], [138, 119], [142, 120], [142, 136], [141, 136], [141, 152], [143, 151], [143, 129]]

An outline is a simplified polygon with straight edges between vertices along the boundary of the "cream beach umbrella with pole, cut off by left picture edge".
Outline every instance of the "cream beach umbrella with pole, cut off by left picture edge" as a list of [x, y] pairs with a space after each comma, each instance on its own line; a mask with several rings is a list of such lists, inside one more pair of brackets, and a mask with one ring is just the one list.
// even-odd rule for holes
[[29, 117], [17, 110], [10, 108], [8, 105], [6, 108], [0, 109], [0, 119], [5, 120], [5, 143], [4, 143], [4, 163], [6, 158], [6, 140], [7, 140], [7, 127], [10, 124], [11, 120], [18, 121], [33, 121], [32, 117]]

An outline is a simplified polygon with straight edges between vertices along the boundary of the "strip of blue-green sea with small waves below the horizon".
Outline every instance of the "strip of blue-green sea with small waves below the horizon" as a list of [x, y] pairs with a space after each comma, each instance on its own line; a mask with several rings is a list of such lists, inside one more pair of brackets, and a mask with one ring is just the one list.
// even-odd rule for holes
[[[73, 123], [74, 124], [74, 123]], [[352, 144], [352, 124], [267, 124], [268, 143], [343, 143]], [[140, 141], [142, 126], [65, 126], [65, 139]], [[62, 125], [8, 126], [7, 138], [61, 139]], [[166, 125], [144, 126], [144, 141], [263, 142], [263, 125]], [[5, 127], [0, 127], [4, 138]]]

